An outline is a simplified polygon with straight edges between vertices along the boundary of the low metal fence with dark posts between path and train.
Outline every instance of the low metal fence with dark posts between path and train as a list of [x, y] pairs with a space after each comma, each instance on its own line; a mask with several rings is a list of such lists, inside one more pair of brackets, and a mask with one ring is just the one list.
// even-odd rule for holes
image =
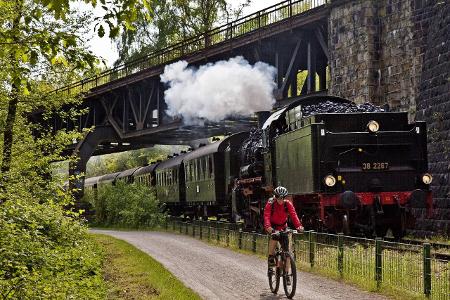
[[[265, 255], [269, 237], [233, 223], [170, 219], [166, 229], [210, 243]], [[411, 245], [307, 231], [296, 234], [297, 267], [342, 278], [367, 289], [450, 300], [450, 260], [430, 244]], [[449, 254], [449, 253], [448, 253]]]

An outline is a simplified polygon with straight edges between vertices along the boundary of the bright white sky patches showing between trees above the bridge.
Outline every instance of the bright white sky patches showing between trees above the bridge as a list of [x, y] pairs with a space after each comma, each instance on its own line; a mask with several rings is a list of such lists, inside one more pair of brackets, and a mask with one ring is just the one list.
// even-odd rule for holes
[[[236, 0], [229, 0], [230, 3], [233, 3], [235, 1]], [[243, 15], [245, 16], [252, 14], [253, 12], [282, 1], [283, 0], [253, 0], [252, 4], [244, 10]], [[100, 16], [102, 14], [102, 9], [100, 8], [100, 6], [97, 6], [94, 14], [96, 16]], [[88, 47], [90, 48], [90, 50], [97, 56], [102, 57], [105, 60], [107, 66], [111, 67], [114, 61], [118, 58], [116, 46], [111, 42], [107, 34], [105, 34], [103, 38], [98, 37], [97, 34], [94, 33], [94, 28], [92, 28], [90, 36], [92, 36], [92, 38], [88, 42]]]

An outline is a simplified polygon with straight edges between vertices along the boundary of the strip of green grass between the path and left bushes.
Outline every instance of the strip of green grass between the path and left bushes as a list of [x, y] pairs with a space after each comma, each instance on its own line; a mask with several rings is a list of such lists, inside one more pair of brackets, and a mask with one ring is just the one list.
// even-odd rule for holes
[[201, 299], [148, 254], [129, 243], [93, 234], [106, 254], [107, 299]]

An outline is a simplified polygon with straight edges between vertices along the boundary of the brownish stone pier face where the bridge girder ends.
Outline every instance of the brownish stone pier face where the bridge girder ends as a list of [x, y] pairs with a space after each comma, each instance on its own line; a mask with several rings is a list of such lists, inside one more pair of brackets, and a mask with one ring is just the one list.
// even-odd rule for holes
[[328, 23], [330, 94], [357, 103], [379, 102], [378, 8], [373, 2], [336, 1]]

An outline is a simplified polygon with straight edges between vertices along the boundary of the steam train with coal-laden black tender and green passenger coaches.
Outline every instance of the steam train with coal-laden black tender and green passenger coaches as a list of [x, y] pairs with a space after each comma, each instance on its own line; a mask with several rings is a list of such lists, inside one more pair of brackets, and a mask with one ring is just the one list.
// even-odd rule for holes
[[262, 229], [263, 209], [285, 186], [306, 229], [396, 238], [431, 210], [424, 122], [406, 112], [333, 97], [304, 98], [260, 114], [251, 132], [180, 153], [164, 162], [89, 178], [155, 186], [171, 215], [227, 218]]

